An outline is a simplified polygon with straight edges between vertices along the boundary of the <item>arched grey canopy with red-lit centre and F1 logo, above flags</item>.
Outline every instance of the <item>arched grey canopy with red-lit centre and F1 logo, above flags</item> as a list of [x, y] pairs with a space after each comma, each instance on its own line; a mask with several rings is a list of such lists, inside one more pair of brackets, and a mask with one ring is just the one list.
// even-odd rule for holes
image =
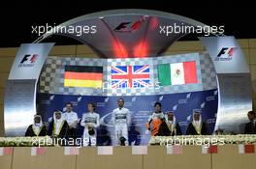
[[61, 35], [89, 45], [103, 58], [155, 57], [187, 34], [171, 33], [172, 29], [174, 32], [175, 27], [185, 26], [207, 25], [177, 14], [151, 10], [112, 10], [71, 19], [56, 26], [36, 42], [51, 35]]

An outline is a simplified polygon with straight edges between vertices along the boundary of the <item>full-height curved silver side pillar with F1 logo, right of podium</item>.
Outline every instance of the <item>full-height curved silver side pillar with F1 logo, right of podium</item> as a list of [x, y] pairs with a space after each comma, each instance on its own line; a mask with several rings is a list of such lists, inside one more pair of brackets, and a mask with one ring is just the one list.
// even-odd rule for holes
[[215, 129], [243, 133], [252, 100], [250, 73], [240, 45], [234, 37], [201, 37], [200, 40], [217, 72], [219, 99]]

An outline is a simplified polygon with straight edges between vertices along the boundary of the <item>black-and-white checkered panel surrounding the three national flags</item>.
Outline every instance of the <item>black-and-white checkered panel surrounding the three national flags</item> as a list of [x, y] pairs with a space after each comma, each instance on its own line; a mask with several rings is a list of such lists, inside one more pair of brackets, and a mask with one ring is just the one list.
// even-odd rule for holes
[[[197, 62], [199, 83], [186, 85], [161, 86], [157, 84], [157, 65], [180, 63], [186, 61]], [[103, 89], [64, 87], [65, 65], [72, 66], [102, 66], [104, 73]], [[149, 88], [112, 89], [112, 66], [142, 66], [149, 65], [151, 86]], [[126, 58], [126, 59], [93, 59], [74, 57], [48, 57], [40, 77], [40, 92], [62, 95], [81, 96], [146, 96], [162, 95], [182, 92], [216, 89], [216, 73], [207, 54], [199, 53], [180, 54], [156, 58]]]

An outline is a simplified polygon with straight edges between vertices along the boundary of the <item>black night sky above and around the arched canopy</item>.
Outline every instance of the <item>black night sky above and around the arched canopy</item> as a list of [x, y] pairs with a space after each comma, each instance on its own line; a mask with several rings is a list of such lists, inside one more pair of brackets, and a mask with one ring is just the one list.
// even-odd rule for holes
[[[22, 42], [33, 42], [38, 36], [32, 34], [32, 26], [58, 25], [82, 14], [90, 14], [114, 9], [148, 9], [183, 15], [209, 26], [224, 25], [225, 35], [233, 35], [238, 39], [256, 38], [256, 19], [254, 5], [224, 1], [205, 1], [186, 4], [185, 1], [173, 3], [170, 0], [158, 1], [126, 1], [109, 2], [92, 0], [77, 3], [75, 1], [48, 3], [38, 1], [33, 4], [12, 2], [0, 6], [0, 47], [19, 46]], [[202, 4], [201, 4], [202, 3]], [[15, 4], [15, 6], [14, 6]], [[195, 35], [186, 36], [181, 41], [196, 40]], [[65, 37], [52, 37], [48, 42], [57, 44], [80, 43]]]

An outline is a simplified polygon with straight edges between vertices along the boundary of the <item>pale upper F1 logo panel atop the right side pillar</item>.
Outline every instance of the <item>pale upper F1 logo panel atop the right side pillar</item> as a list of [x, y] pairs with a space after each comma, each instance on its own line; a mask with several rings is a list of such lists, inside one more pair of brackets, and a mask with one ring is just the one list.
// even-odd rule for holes
[[234, 37], [201, 37], [217, 73], [248, 73], [248, 65]]

